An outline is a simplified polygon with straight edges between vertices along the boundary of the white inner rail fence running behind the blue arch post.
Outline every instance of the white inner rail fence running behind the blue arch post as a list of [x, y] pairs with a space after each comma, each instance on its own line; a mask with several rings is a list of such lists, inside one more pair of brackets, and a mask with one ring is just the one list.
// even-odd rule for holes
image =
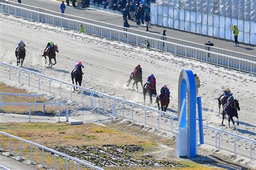
[[[83, 91], [83, 93], [80, 93], [80, 94], [82, 94], [81, 96], [76, 97], [76, 102], [81, 101], [84, 105], [89, 105], [89, 108], [91, 110], [94, 110], [96, 108], [103, 109], [104, 111], [107, 112], [108, 116], [124, 117], [126, 119], [130, 119], [132, 121], [135, 121], [138, 123], [143, 123], [145, 125], [148, 125], [148, 126], [151, 126], [151, 127], [157, 128], [157, 129], [161, 129], [164, 131], [169, 131], [172, 133], [174, 132], [174, 126], [177, 124], [178, 117], [176, 115], [170, 114], [168, 112], [159, 111], [157, 109], [153, 109], [153, 108], [147, 107], [142, 104], [138, 104], [138, 103], [134, 103], [131, 101], [123, 100], [118, 97], [106, 95], [106, 94], [100, 93], [96, 90], [91, 90], [89, 88], [76, 86], [75, 84], [64, 82], [62, 80], [58, 80], [58, 79], [55, 79], [55, 78], [52, 78], [49, 76], [45, 76], [45, 75], [42, 75], [42, 74], [39, 74], [36, 72], [32, 72], [30, 70], [19, 68], [17, 66], [9, 65], [8, 63], [0, 62], [0, 66], [3, 66], [4, 68], [9, 67], [9, 73], [6, 74], [6, 76], [9, 77], [9, 80], [12, 80], [12, 79], [19, 80], [21, 74], [16, 74], [16, 75], [18, 75], [18, 77], [14, 77], [14, 76], [11, 76], [11, 73], [14, 72], [15, 70], [18, 70], [18, 72], [22, 70], [23, 73], [26, 73], [29, 75], [30, 74], [37, 75], [38, 80], [42, 79], [42, 77], [43, 77], [45, 80], [48, 80], [49, 82], [51, 82], [51, 81], [58, 82], [59, 86], [57, 85], [56, 87], [58, 87], [57, 89], [59, 89], [59, 93], [57, 90], [56, 91], [57, 93], [55, 93], [55, 94], [62, 96], [62, 97], [68, 97], [68, 98], [70, 98], [70, 100], [74, 99], [74, 97], [72, 97], [74, 95], [72, 88], [73, 87], [79, 88]], [[3, 75], [3, 73], [2, 73], [2, 75]], [[30, 76], [26, 76], [26, 77], [28, 77], [28, 80], [22, 79], [22, 80], [24, 80], [23, 83], [28, 84], [29, 86], [36, 87], [38, 89], [41, 88], [41, 90], [46, 90], [46, 91], [49, 91], [49, 93], [52, 93], [53, 87], [50, 85], [50, 83], [49, 83], [49, 87], [48, 86], [43, 87], [42, 83], [41, 83], [41, 86], [39, 86], [40, 81], [34, 80], [33, 81], [34, 84], [31, 84]], [[47, 83], [45, 82], [44, 85], [46, 85], [46, 84]], [[64, 84], [65, 84], [65, 86], [68, 87], [68, 88], [66, 88], [65, 91], [64, 91], [64, 89], [61, 88], [61, 86], [63, 86]], [[64, 92], [67, 92], [67, 93], [64, 93]], [[87, 102], [87, 103], [84, 100], [85, 96], [90, 96], [88, 98], [89, 102]], [[117, 109], [118, 109], [118, 111], [117, 111]], [[151, 114], [148, 114], [148, 112], [151, 112]], [[168, 118], [165, 117], [165, 119], [164, 119], [163, 115], [167, 116]], [[174, 123], [174, 121], [175, 121], [175, 123]], [[256, 140], [253, 140], [253, 139], [250, 139], [247, 137], [243, 137], [238, 134], [228, 132], [228, 131], [225, 131], [222, 129], [214, 128], [213, 126], [209, 126], [206, 124], [203, 124], [203, 126], [204, 126], [205, 131], [210, 131], [210, 133], [208, 133], [208, 135], [212, 134], [212, 136], [207, 136], [207, 134], [205, 133], [205, 142], [207, 144], [213, 145], [216, 148], [231, 151], [235, 154], [240, 154], [240, 155], [244, 155], [246, 157], [250, 157], [251, 159], [256, 159], [256, 153], [255, 153]], [[221, 136], [221, 134], [222, 134], [222, 136]], [[225, 134], [225, 138], [223, 138], [224, 134]], [[221, 143], [222, 140], [225, 140], [227, 138], [230, 140], [233, 139], [234, 146], [232, 146], [230, 143]], [[240, 144], [246, 143], [246, 146], [239, 146], [239, 148], [238, 148], [237, 147], [238, 142], [240, 142]]]

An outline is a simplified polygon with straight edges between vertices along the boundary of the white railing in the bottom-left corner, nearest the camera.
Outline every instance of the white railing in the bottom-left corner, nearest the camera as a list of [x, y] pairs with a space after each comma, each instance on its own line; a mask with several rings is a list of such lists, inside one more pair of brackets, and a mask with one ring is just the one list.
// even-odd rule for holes
[[64, 157], [65, 158], [66, 169], [68, 169], [68, 160], [72, 160], [72, 161], [77, 162], [78, 163], [78, 169], [80, 169], [81, 165], [87, 166], [87, 167], [89, 167], [91, 169], [102, 169], [100, 167], [92, 165], [91, 162], [79, 160], [79, 159], [71, 157], [71, 156], [69, 156], [67, 154], [55, 151], [55, 150], [53, 150], [53, 149], [51, 149], [49, 147], [45, 147], [43, 145], [39, 145], [37, 143], [33, 143], [32, 141], [25, 140], [25, 139], [13, 136], [13, 135], [11, 135], [9, 133], [5, 133], [5, 132], [0, 131], [0, 134], [3, 134], [4, 136], [8, 136], [9, 137], [9, 155], [11, 155], [11, 138], [19, 140], [19, 159], [20, 160], [22, 160], [22, 143], [29, 144], [30, 145], [30, 155], [31, 155], [30, 162], [31, 162], [31, 164], [33, 162], [33, 146], [36, 146], [36, 147], [39, 147], [39, 148], [42, 149], [42, 167], [44, 167], [44, 151], [48, 151], [48, 152], [54, 153], [54, 169], [56, 169], [56, 166], [57, 166], [56, 165], [57, 164], [56, 163], [56, 155], [59, 155], [60, 157]]

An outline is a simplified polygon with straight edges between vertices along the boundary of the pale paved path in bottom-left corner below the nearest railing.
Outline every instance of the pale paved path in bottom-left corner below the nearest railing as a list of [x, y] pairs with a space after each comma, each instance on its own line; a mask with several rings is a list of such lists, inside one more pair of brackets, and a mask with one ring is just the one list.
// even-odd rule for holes
[[[3, 155], [0, 155], [0, 165], [5, 166], [6, 168], [9, 169], [22, 169], [22, 170], [34, 170], [37, 168], [34, 168], [30, 165], [26, 165], [25, 163], [19, 162], [18, 160], [5, 157]], [[0, 168], [1, 169], [1, 168]]]

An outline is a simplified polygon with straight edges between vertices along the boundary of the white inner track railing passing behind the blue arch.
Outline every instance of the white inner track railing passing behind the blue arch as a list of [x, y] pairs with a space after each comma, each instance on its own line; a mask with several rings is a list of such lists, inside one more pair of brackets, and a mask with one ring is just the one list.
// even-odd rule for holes
[[[49, 82], [51, 82], [51, 81], [59, 82], [60, 83], [59, 87], [61, 87], [62, 84], [66, 84], [66, 85], [70, 86], [71, 87], [70, 89], [72, 89], [73, 87], [77, 87], [77, 88], [80, 88], [80, 89], [82, 89], [84, 91], [89, 92], [89, 94], [88, 94], [88, 95], [90, 95], [89, 105], [90, 105], [90, 109], [91, 110], [96, 109], [96, 100], [98, 100], [99, 101], [99, 107], [98, 108], [104, 109], [105, 112], [107, 112], [107, 109], [108, 109], [106, 107], [106, 104], [110, 104], [109, 108], [111, 108], [112, 114], [110, 114], [110, 112], [108, 112], [107, 114], [109, 116], [112, 115], [112, 116], [121, 116], [121, 117], [124, 117], [124, 118], [128, 118], [125, 115], [125, 111], [130, 109], [129, 111], [130, 111], [130, 114], [131, 114], [131, 118], [128, 118], [128, 119], [131, 119], [132, 121], [144, 123], [145, 125], [153, 126], [155, 128], [161, 129], [161, 130], [170, 131], [170, 132], [173, 133], [173, 126], [174, 126], [174, 122], [173, 121], [174, 121], [174, 119], [177, 120], [177, 118], [178, 118], [176, 115], [173, 115], [173, 114], [170, 114], [170, 113], [167, 113], [167, 112], [163, 112], [163, 111], [159, 111], [157, 109], [153, 109], [153, 108], [147, 107], [147, 106], [142, 105], [142, 104], [138, 104], [138, 103], [130, 102], [130, 101], [127, 101], [127, 100], [123, 100], [121, 98], [109, 96], [109, 95], [100, 93], [100, 92], [98, 92], [96, 90], [91, 90], [89, 88], [84, 88], [84, 87], [76, 86], [74, 84], [71, 84], [71, 83], [68, 83], [68, 82], [64, 82], [62, 80], [58, 80], [58, 79], [55, 79], [55, 78], [52, 78], [52, 77], [49, 77], [49, 76], [45, 76], [45, 75], [42, 75], [42, 74], [39, 74], [39, 73], [36, 73], [36, 72], [32, 72], [30, 70], [19, 68], [17, 66], [9, 65], [8, 63], [0, 62], [0, 65], [5, 66], [5, 67], [9, 67], [9, 80], [11, 80], [11, 69], [14, 68], [14, 69], [18, 69], [19, 71], [22, 70], [24, 73], [26, 72], [29, 75], [30, 74], [35, 74], [35, 75], [38, 76], [38, 79], [40, 79], [40, 77], [45, 77], [45, 78], [47, 78], [49, 80]], [[18, 74], [18, 76], [21, 76], [21, 75]], [[30, 76], [28, 76], [28, 77], [30, 79]], [[30, 80], [28, 80], [28, 82], [30, 82]], [[36, 82], [36, 81], [33, 81], [33, 82]], [[39, 84], [39, 81], [38, 81], [38, 84]], [[30, 85], [31, 84], [29, 84], [29, 86]], [[38, 87], [37, 84], [34, 84], [34, 87]], [[44, 90], [50, 92], [51, 91], [51, 86], [49, 86], [49, 88], [44, 88]], [[62, 91], [62, 88], [59, 88], [59, 92], [61, 92], [61, 91]], [[72, 90], [70, 90], [70, 91], [71, 91], [71, 94], [72, 94]], [[83, 93], [81, 93], [81, 94], [82, 94], [82, 96], [81, 96], [80, 100], [83, 103], [84, 95], [83, 95]], [[61, 96], [61, 93], [59, 93], [59, 95]], [[65, 96], [65, 97], [69, 97], [70, 100], [72, 100], [72, 95], [68, 95], [68, 96]], [[116, 107], [118, 106], [118, 102], [121, 104], [120, 108], [122, 108], [122, 113], [118, 113], [117, 110], [116, 110]], [[85, 103], [83, 103], [83, 104], [85, 104]], [[129, 104], [130, 107], [126, 107], [125, 108], [124, 104]], [[135, 117], [134, 116], [135, 115], [134, 111], [136, 110], [136, 108], [134, 108], [134, 107], [136, 107], [137, 110], [138, 109], [143, 109], [143, 111], [144, 111], [143, 119], [138, 119], [138, 118], [136, 119], [136, 118], [134, 118]], [[156, 113], [157, 114], [156, 118], [158, 118], [158, 119], [154, 120], [154, 122], [149, 123], [147, 121], [147, 119], [148, 119], [147, 118], [147, 111], [152, 111], [152, 112]], [[163, 122], [159, 121], [160, 120], [160, 116], [164, 115], [164, 114], [170, 117], [170, 124], [169, 124], [169, 122], [163, 123]], [[250, 145], [250, 151], [248, 151], [250, 153], [246, 154], [244, 152], [242, 152], [242, 153], [240, 152], [239, 154], [242, 154], [242, 155], [245, 155], [247, 157], [250, 157], [251, 159], [253, 159], [253, 158], [255, 159], [255, 157], [253, 157], [253, 155], [252, 155], [252, 151], [253, 151], [253, 149], [255, 150], [255, 146], [256, 145], [254, 145], [254, 144], [256, 144], [256, 140], [253, 140], [253, 139], [250, 139], [250, 138], [246, 138], [246, 137], [242, 137], [242, 136], [240, 136], [238, 134], [231, 133], [231, 132], [228, 132], [228, 131], [225, 131], [225, 130], [221, 130], [221, 129], [218, 129], [218, 128], [214, 128], [214, 127], [206, 125], [206, 124], [203, 124], [203, 126], [204, 126], [204, 128], [207, 128], [207, 129], [215, 131], [215, 147], [217, 147], [217, 148], [224, 148], [225, 147], [225, 150], [232, 151], [235, 154], [238, 154], [237, 149], [236, 149], [236, 141], [237, 141], [237, 139], [248, 141], [251, 144]], [[220, 147], [220, 139], [221, 139], [220, 135], [223, 134], [223, 133], [227, 134], [228, 136], [235, 137], [235, 139], [234, 139], [234, 150], [233, 150], [233, 148], [231, 148], [230, 144], [228, 144], [227, 146]], [[212, 139], [212, 140], [214, 140], [214, 139]], [[209, 141], [209, 140], [208, 141], [205, 140], [205, 141], [208, 144], [212, 143], [212, 141]]]

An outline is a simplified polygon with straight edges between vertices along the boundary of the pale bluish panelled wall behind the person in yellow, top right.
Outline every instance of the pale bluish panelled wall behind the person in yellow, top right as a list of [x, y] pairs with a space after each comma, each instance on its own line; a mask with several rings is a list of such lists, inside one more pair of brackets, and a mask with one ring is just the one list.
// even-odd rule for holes
[[151, 23], [210, 37], [256, 45], [255, 0], [158, 0], [151, 4]]

